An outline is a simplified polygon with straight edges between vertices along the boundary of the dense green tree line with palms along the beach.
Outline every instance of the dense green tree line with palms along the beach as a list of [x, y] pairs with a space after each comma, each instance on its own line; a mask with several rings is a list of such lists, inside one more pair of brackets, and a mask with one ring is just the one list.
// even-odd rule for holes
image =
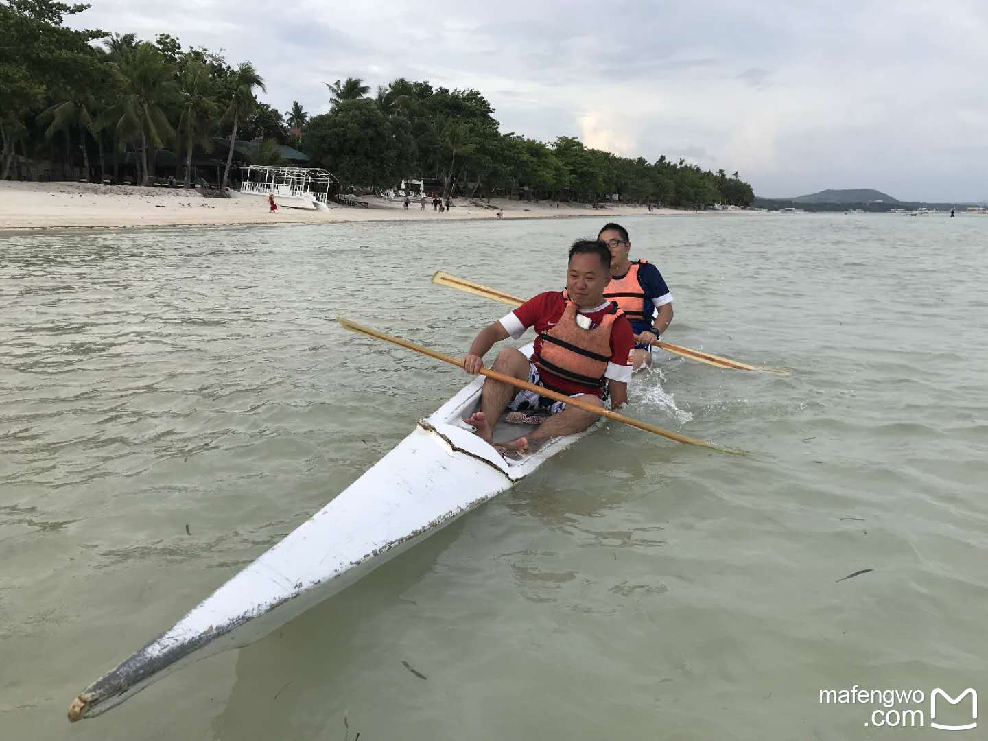
[[[416, 180], [443, 198], [500, 196], [677, 208], [751, 206], [734, 172], [621, 157], [560, 135], [501, 132], [474, 89], [404, 78], [375, 94], [359, 77], [327, 83], [328, 113], [260, 102], [264, 77], [167, 34], [73, 30], [87, 5], [0, 0], [0, 180], [88, 180], [186, 187], [239, 181], [240, 166], [304, 164], [345, 190]], [[172, 180], [174, 179], [174, 180]]]

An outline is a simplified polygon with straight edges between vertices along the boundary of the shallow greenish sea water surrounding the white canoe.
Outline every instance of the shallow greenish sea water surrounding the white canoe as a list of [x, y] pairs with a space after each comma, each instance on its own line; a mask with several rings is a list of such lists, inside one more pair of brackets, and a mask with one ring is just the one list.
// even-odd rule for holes
[[665, 339], [793, 369], [658, 354], [628, 413], [752, 454], [608, 424], [71, 726], [466, 380], [336, 317], [460, 355], [507, 307], [434, 271], [560, 288], [601, 223], [0, 233], [0, 739], [924, 738], [819, 691], [986, 696], [988, 218], [622, 221], [676, 295]]

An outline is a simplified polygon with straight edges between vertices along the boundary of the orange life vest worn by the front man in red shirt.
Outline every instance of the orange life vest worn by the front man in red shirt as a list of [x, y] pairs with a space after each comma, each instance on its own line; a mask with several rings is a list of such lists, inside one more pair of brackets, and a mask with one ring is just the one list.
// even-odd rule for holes
[[593, 329], [576, 323], [577, 306], [564, 290], [566, 308], [554, 327], [539, 333], [541, 347], [532, 359], [535, 367], [582, 385], [600, 388], [611, 360], [611, 328], [622, 312], [613, 303], [611, 313]]

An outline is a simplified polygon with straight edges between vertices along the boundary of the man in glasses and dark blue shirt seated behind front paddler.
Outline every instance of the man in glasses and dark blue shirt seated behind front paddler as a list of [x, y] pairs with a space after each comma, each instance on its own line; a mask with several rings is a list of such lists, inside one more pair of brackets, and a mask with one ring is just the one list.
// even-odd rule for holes
[[673, 320], [673, 294], [658, 268], [646, 260], [630, 260], [631, 240], [623, 226], [605, 224], [597, 238], [611, 250], [611, 283], [604, 297], [617, 303], [631, 322], [631, 368], [637, 371], [643, 363], [651, 365], [651, 346]]

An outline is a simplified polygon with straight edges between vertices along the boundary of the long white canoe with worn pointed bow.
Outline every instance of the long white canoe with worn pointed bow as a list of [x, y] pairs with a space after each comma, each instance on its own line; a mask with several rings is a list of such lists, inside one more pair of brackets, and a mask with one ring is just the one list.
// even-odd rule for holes
[[[332, 502], [87, 687], [72, 701], [69, 720], [99, 715], [175, 669], [258, 640], [587, 434], [554, 438], [531, 455], [506, 460], [462, 422], [476, 409], [482, 384], [477, 376]], [[496, 439], [521, 434], [524, 428], [502, 424]]]

